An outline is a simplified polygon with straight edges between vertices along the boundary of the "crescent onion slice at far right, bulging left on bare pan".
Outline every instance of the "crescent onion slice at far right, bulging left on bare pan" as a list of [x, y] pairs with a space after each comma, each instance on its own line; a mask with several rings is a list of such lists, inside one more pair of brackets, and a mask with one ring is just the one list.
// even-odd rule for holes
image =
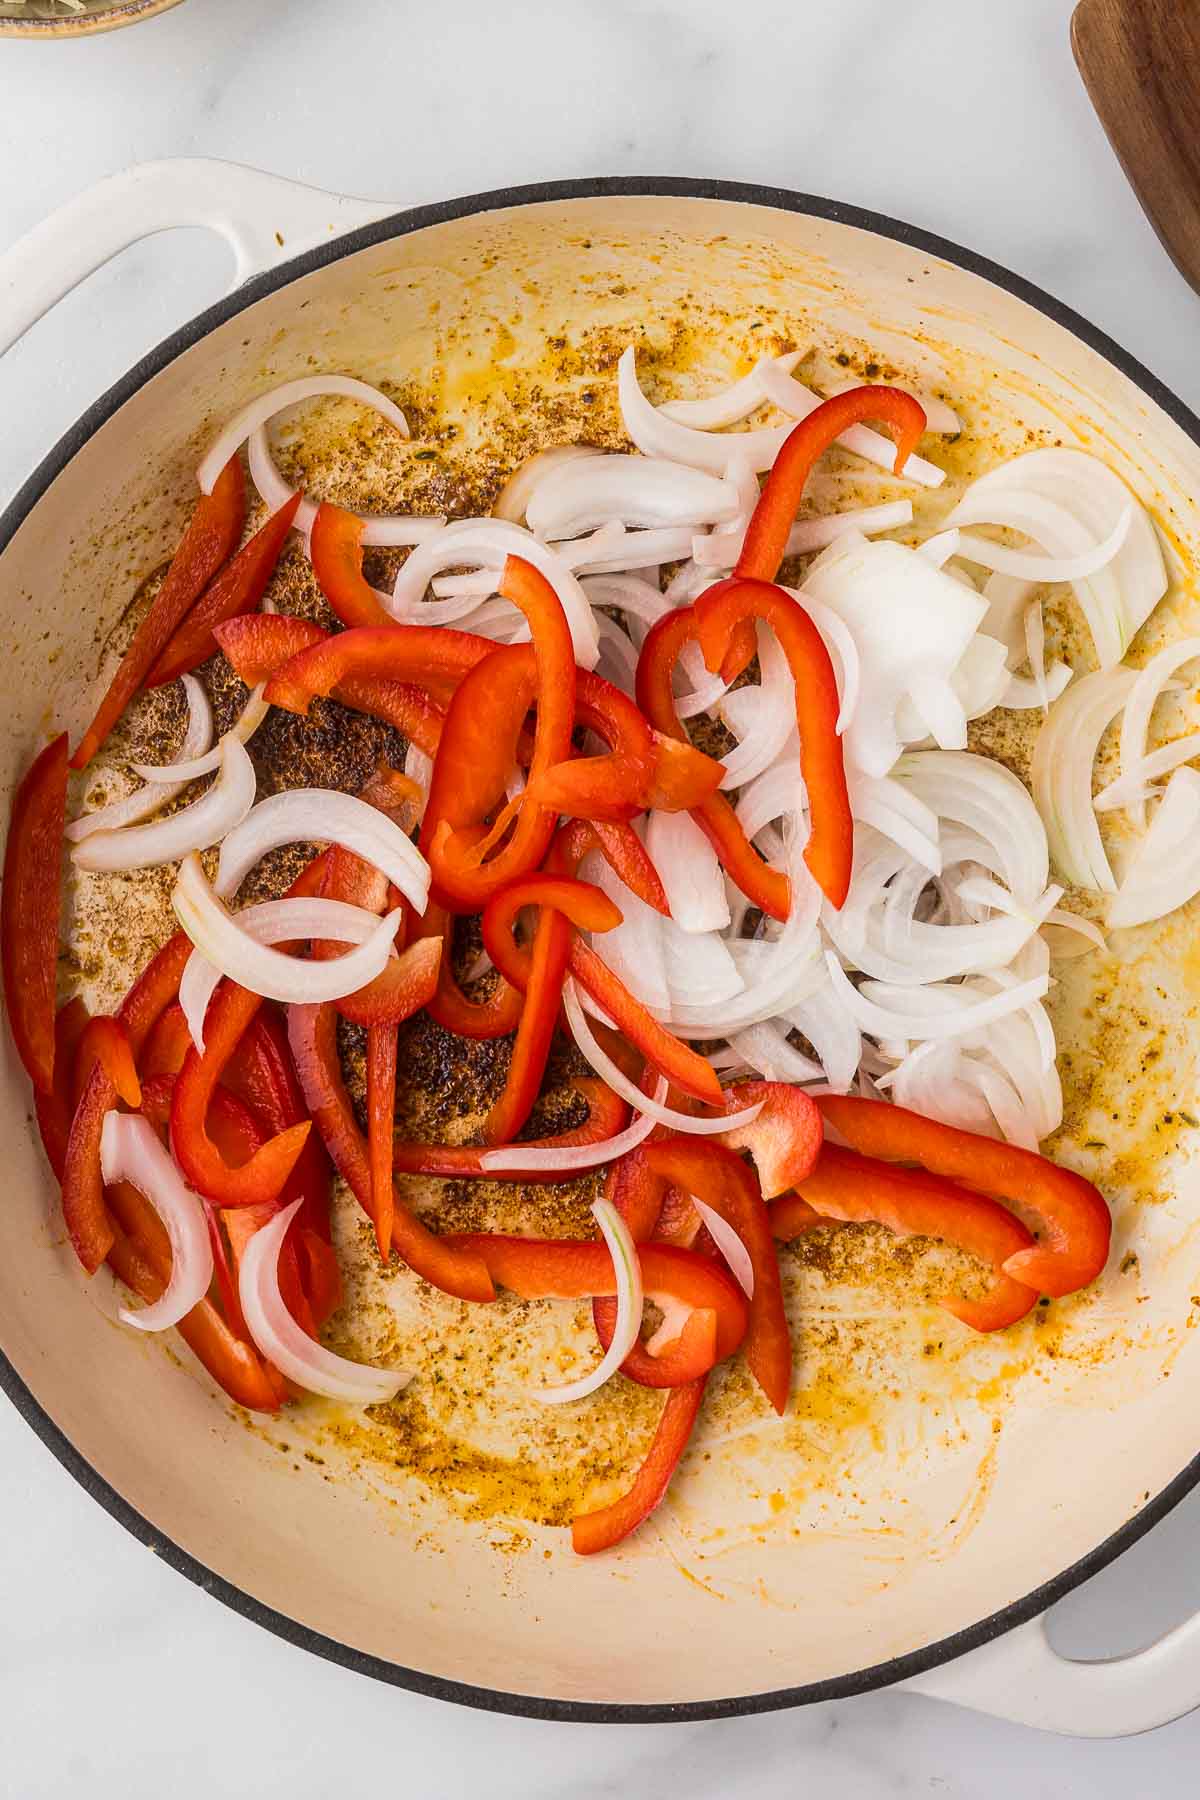
[[1092, 806], [1092, 765], [1135, 682], [1133, 670], [1083, 675], [1054, 702], [1033, 751], [1033, 796], [1051, 855], [1076, 887], [1117, 891]]

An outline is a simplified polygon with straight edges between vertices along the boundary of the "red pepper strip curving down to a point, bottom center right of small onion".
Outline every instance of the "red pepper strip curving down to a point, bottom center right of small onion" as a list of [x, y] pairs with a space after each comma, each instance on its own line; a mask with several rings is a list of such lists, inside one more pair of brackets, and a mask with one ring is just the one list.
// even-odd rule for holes
[[718, 1211], [745, 1244], [754, 1269], [745, 1355], [759, 1388], [783, 1413], [792, 1391], [792, 1334], [775, 1240], [757, 1181], [739, 1156], [711, 1139], [666, 1138], [644, 1145], [644, 1154], [655, 1174]]

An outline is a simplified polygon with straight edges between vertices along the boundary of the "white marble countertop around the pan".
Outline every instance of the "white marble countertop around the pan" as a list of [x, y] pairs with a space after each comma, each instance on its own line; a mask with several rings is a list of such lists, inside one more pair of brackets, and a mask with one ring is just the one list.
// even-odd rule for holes
[[[1072, 0], [187, 0], [83, 43], [0, 43], [0, 243], [148, 157], [216, 155], [435, 200], [507, 182], [675, 173], [808, 189], [912, 220], [1042, 283], [1200, 405], [1200, 302], [1088, 108]], [[835, 18], [837, 14], [837, 18]], [[0, 502], [83, 407], [212, 299], [225, 252], [130, 252], [0, 365]], [[1079, 1656], [1200, 1606], [1200, 1496], [1060, 1607]], [[1200, 1714], [1070, 1742], [905, 1694], [694, 1726], [452, 1710], [326, 1665], [133, 1543], [0, 1406], [0, 1793], [419, 1800], [1195, 1791]]]

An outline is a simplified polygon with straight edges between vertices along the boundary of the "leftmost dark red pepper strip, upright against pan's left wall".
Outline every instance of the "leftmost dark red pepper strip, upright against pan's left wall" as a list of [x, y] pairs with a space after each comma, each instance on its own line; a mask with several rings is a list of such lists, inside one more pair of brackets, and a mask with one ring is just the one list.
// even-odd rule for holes
[[13, 796], [0, 891], [4, 999], [16, 1055], [38, 1093], [54, 1087], [54, 985], [67, 817], [67, 734], [47, 743]]

